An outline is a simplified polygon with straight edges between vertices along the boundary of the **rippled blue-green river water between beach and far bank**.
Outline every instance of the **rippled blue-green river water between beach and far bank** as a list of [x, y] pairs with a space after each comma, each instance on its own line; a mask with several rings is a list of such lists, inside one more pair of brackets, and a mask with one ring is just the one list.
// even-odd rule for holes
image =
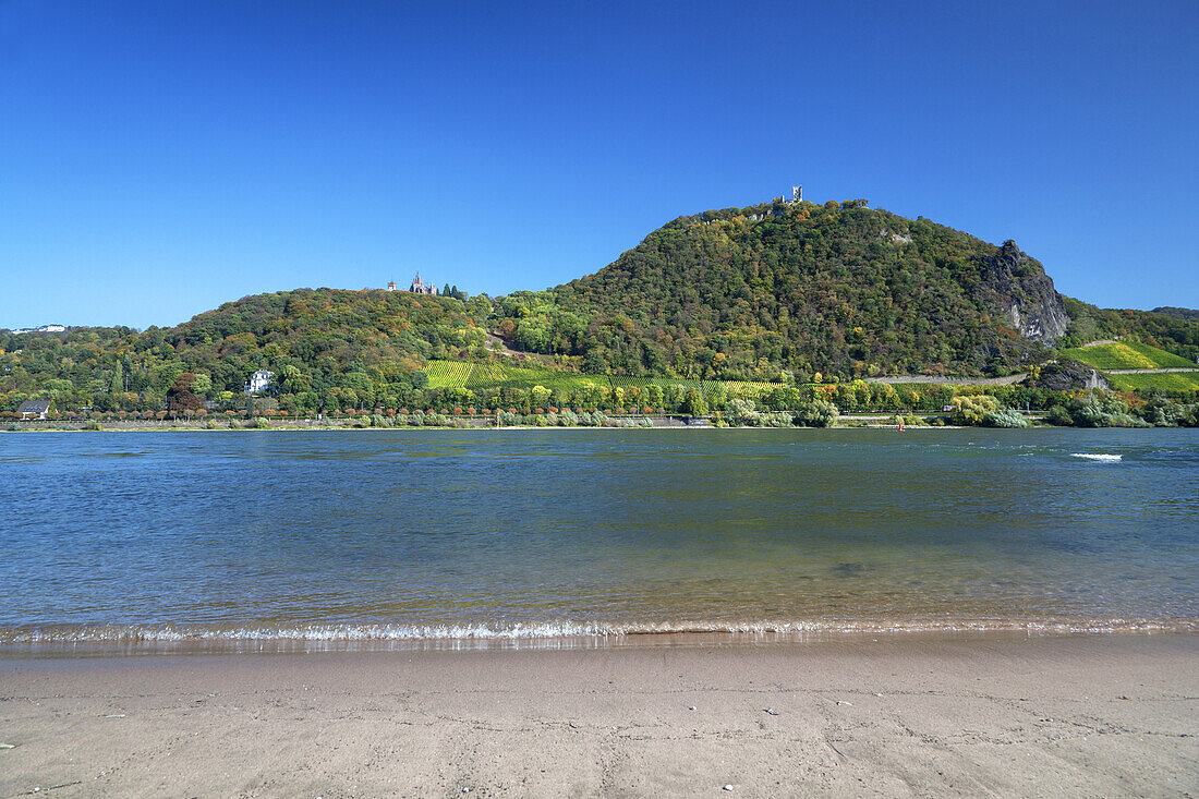
[[8, 643], [1199, 626], [1199, 431], [5, 434], [0, 497]]

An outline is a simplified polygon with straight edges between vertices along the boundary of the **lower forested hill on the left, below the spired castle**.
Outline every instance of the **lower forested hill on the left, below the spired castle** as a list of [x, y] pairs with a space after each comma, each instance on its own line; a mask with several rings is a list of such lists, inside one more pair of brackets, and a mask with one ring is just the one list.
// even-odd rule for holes
[[275, 372], [294, 413], [373, 405], [421, 382], [432, 358], [482, 349], [490, 302], [408, 292], [296, 289], [247, 296], [175, 328], [0, 331], [0, 411], [28, 397], [59, 408], [157, 410], [180, 376], [233, 402], [248, 376]]

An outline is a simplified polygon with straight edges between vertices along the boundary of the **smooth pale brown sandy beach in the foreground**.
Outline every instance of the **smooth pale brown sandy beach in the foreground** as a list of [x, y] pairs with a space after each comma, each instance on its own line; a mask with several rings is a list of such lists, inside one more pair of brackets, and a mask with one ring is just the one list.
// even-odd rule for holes
[[0, 656], [2, 797], [1199, 793], [1199, 636]]

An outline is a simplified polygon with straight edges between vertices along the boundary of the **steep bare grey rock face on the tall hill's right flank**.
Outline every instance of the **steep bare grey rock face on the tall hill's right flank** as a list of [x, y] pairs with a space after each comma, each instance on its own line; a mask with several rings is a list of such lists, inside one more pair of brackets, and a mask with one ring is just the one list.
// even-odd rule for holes
[[1053, 347], [1066, 332], [1070, 316], [1041, 263], [1020, 252], [1014, 241], [1005, 241], [994, 256], [978, 260], [975, 298], [1025, 338]]

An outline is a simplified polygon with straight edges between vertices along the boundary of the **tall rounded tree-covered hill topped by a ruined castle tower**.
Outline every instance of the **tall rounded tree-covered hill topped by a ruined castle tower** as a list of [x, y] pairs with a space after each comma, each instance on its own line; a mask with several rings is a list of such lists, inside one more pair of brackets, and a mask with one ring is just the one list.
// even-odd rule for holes
[[1070, 324], [1014, 242], [864, 200], [683, 216], [595, 275], [498, 312], [514, 346], [582, 356], [588, 371], [733, 379], [1002, 374], [1048, 355]]

